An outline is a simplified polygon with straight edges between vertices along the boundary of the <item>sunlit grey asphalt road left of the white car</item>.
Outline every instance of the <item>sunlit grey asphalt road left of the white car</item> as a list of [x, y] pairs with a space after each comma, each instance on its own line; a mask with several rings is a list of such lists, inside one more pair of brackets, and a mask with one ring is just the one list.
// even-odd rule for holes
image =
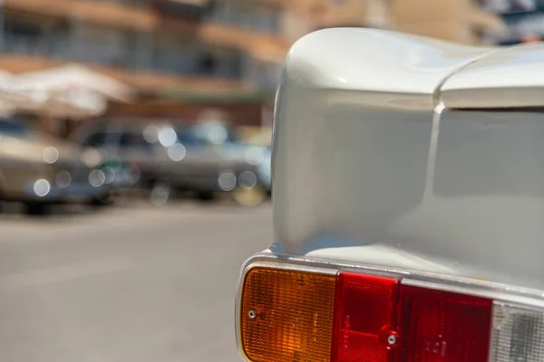
[[0, 361], [240, 361], [241, 263], [270, 207], [133, 205], [0, 217]]

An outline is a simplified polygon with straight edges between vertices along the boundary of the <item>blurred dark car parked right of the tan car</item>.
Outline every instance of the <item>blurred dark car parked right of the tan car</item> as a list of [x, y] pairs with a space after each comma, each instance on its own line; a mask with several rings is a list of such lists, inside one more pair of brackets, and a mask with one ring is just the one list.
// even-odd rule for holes
[[215, 143], [221, 137], [209, 136], [194, 125], [108, 122], [84, 130], [77, 143], [100, 150], [112, 185], [147, 190], [155, 204], [185, 191], [202, 200], [228, 192], [240, 205], [260, 204], [267, 188], [257, 167], [228, 157]]

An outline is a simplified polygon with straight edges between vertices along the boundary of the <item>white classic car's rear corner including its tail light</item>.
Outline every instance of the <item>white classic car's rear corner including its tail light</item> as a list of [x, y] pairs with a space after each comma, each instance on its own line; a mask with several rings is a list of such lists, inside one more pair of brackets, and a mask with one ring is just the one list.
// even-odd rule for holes
[[544, 360], [544, 45], [299, 40], [275, 240], [243, 265], [251, 362]]

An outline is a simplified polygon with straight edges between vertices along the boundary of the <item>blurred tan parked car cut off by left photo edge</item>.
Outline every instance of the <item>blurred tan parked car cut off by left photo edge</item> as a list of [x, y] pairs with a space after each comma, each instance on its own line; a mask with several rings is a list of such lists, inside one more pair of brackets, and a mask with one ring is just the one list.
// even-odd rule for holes
[[108, 201], [99, 163], [92, 149], [38, 135], [15, 117], [0, 119], [0, 200], [23, 202], [28, 214], [46, 214], [52, 204]]

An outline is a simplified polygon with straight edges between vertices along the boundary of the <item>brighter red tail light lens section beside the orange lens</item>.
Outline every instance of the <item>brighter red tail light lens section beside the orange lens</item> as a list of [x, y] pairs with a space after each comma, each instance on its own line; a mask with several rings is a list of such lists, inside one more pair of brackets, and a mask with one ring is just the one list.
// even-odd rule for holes
[[338, 276], [332, 361], [392, 361], [398, 289], [396, 279]]

